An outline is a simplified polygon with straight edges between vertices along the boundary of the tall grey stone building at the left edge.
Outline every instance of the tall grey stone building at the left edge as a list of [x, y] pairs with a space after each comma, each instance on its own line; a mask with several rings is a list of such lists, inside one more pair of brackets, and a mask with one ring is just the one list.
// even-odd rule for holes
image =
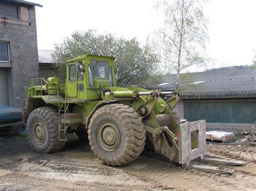
[[0, 1], [0, 105], [23, 107], [30, 79], [38, 77], [35, 6]]

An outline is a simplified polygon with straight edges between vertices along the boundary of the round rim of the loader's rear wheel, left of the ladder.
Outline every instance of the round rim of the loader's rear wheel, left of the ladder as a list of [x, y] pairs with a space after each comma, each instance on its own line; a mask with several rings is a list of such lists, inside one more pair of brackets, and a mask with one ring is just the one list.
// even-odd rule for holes
[[41, 122], [36, 121], [33, 123], [33, 135], [37, 144], [42, 145], [45, 142], [46, 129]]

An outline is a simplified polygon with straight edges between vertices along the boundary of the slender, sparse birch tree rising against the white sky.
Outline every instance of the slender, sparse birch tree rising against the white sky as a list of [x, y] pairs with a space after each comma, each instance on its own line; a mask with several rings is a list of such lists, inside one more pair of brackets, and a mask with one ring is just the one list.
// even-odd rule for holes
[[198, 0], [163, 0], [156, 4], [157, 10], [164, 13], [164, 26], [156, 31], [154, 44], [159, 47], [164, 65], [176, 74], [176, 89], [183, 81], [181, 72], [194, 65], [205, 65], [207, 60], [204, 4]]

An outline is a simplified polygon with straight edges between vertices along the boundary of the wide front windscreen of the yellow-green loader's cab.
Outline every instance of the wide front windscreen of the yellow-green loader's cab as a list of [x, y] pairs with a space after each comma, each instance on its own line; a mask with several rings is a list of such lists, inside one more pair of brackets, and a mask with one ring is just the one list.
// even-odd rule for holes
[[107, 68], [109, 68], [109, 62], [90, 60], [93, 72], [96, 78], [107, 78]]

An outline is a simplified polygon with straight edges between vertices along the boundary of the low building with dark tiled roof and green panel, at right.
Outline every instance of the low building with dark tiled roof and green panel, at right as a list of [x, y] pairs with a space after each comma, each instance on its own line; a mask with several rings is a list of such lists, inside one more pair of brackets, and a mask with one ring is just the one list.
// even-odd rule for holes
[[[176, 107], [181, 119], [206, 119], [207, 130], [241, 132], [256, 121], [256, 68], [216, 69], [187, 75]], [[174, 76], [152, 89], [172, 91]], [[194, 86], [187, 86], [194, 85]]]

